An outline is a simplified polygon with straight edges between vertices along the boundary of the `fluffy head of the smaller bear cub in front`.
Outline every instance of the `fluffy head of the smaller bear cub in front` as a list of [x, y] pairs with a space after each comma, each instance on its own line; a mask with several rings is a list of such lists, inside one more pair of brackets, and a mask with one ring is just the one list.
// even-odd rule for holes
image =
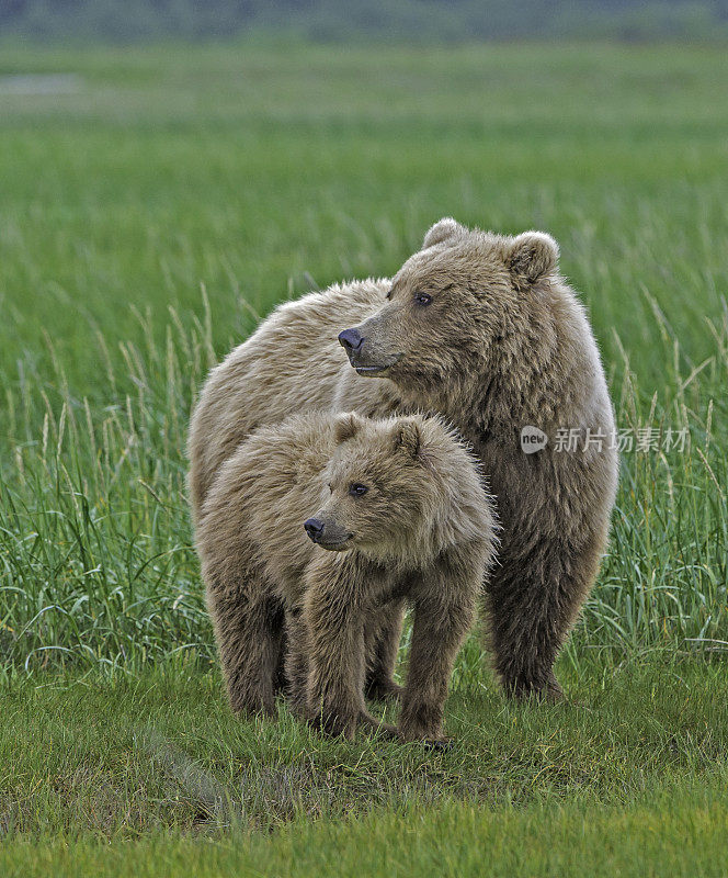
[[339, 415], [321, 507], [304, 527], [323, 549], [388, 558], [430, 527], [437, 486], [423, 450], [422, 418]]

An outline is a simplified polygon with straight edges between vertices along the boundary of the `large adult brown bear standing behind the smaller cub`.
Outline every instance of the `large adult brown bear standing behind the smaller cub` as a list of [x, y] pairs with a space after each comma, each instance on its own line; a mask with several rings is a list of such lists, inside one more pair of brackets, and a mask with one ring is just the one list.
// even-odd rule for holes
[[[509, 691], [557, 696], [554, 661], [598, 572], [618, 460], [604, 371], [583, 307], [558, 272], [556, 243], [447, 217], [394, 279], [278, 307], [203, 390], [190, 432], [193, 514], [251, 430], [306, 409], [425, 410], [457, 426], [503, 526], [486, 599], [496, 668]], [[526, 426], [548, 435], [545, 449], [523, 453]], [[559, 429], [572, 431], [567, 449]], [[589, 441], [600, 436], [601, 447]], [[378, 638], [373, 693], [393, 686], [394, 617]]]

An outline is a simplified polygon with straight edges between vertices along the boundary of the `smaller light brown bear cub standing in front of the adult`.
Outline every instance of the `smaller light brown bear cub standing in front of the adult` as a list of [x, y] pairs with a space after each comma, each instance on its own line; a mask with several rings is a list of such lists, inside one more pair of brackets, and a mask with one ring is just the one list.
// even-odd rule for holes
[[398, 628], [407, 601], [398, 732], [441, 741], [494, 533], [477, 462], [439, 419], [314, 413], [254, 432], [219, 469], [197, 522], [232, 708], [273, 712], [284, 677], [292, 708], [326, 731], [378, 727], [367, 668], [384, 620]]

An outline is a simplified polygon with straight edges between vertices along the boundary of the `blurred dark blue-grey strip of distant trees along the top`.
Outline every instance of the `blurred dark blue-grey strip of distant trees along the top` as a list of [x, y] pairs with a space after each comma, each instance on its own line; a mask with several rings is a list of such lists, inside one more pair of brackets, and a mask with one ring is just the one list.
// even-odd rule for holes
[[4, 33], [128, 42], [274, 34], [409, 43], [514, 38], [716, 38], [726, 0], [3, 0]]

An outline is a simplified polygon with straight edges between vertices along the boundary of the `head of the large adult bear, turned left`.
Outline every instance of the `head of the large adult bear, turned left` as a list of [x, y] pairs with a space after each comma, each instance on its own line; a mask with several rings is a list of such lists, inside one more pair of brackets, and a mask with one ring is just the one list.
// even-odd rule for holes
[[493, 235], [447, 217], [394, 277], [379, 311], [339, 341], [361, 375], [424, 392], [456, 387], [528, 344], [557, 274], [549, 235]]

